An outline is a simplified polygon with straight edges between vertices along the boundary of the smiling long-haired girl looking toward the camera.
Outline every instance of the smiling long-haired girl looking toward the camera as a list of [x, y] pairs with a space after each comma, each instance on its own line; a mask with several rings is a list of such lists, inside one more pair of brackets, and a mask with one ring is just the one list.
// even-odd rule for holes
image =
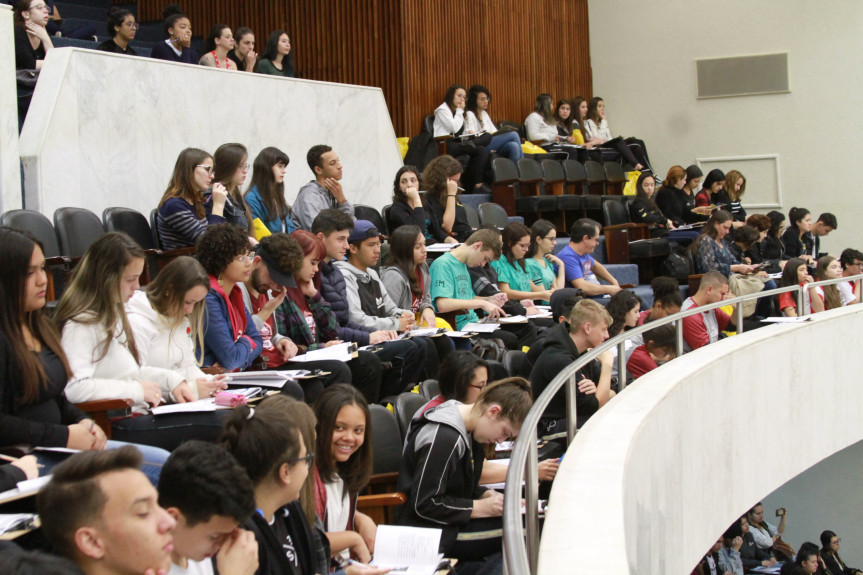
[[[357, 511], [357, 495], [372, 474], [369, 406], [350, 385], [327, 388], [315, 401], [315, 508], [333, 557], [368, 563], [375, 552], [377, 525]], [[369, 439], [368, 441], [366, 441]]]

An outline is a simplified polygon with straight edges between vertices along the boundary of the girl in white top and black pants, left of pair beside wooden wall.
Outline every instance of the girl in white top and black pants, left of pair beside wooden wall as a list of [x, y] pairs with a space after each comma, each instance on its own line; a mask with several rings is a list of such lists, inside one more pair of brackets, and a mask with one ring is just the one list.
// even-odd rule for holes
[[[467, 92], [464, 86], [453, 84], [444, 95], [443, 103], [434, 111], [434, 137], [465, 136], [464, 111], [467, 103]], [[483, 173], [488, 164], [491, 135], [484, 134], [471, 142], [459, 142], [450, 138], [446, 142], [446, 153], [453, 158], [469, 156], [465, 168], [465, 188], [471, 193], [482, 193]], [[461, 171], [461, 170], [460, 170]], [[428, 185], [428, 183], [426, 183]], [[488, 191], [486, 189], [486, 191]], [[440, 240], [442, 241], [442, 240]]]

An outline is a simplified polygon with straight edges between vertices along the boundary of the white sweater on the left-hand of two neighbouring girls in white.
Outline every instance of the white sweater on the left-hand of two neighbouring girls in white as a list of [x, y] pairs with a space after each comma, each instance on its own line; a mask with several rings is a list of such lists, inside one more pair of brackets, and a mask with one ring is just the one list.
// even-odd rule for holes
[[114, 331], [105, 357], [97, 361], [103, 338], [104, 331], [99, 324], [73, 319], [63, 326], [60, 341], [73, 373], [66, 385], [66, 397], [72, 403], [124, 398], [144, 403], [144, 388], [139, 381], [156, 382], [163, 393], [170, 393], [183, 381], [183, 377], [173, 371], [139, 366], [125, 346], [126, 334], [120, 325]]

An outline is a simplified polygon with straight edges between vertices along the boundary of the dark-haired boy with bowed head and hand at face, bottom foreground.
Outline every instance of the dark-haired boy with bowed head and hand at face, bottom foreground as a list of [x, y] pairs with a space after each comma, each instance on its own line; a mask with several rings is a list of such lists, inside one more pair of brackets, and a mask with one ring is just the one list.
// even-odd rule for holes
[[159, 505], [174, 518], [168, 575], [252, 575], [258, 543], [238, 529], [255, 511], [246, 470], [223, 447], [187, 441], [174, 450], [159, 477]]

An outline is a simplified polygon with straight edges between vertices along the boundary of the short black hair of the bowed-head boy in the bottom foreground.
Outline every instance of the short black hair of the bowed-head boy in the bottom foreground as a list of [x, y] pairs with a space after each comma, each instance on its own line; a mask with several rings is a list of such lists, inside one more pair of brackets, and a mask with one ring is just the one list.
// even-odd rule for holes
[[255, 491], [246, 470], [224, 447], [191, 440], [162, 466], [159, 505], [179, 509], [189, 527], [214, 515], [242, 524], [255, 510]]

